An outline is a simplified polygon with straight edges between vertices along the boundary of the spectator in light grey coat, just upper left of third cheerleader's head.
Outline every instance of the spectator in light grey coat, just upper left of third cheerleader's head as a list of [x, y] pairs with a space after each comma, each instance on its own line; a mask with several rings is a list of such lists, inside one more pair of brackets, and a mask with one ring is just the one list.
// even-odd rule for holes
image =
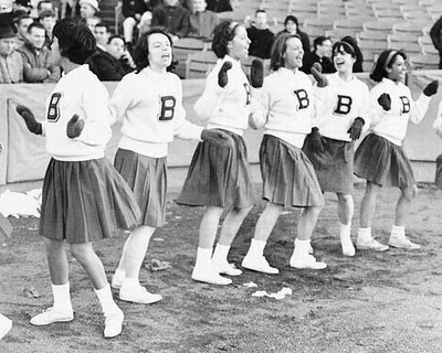
[[213, 30], [220, 22], [217, 13], [207, 10], [206, 0], [192, 0], [192, 13], [190, 14], [190, 32], [188, 36], [201, 39], [213, 38]]

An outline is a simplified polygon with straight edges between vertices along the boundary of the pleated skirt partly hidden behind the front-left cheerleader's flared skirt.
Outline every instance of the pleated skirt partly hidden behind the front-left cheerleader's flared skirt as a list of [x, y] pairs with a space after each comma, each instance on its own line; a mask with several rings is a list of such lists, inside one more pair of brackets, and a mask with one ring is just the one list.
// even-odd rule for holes
[[166, 222], [167, 158], [118, 149], [114, 164], [134, 191], [141, 210], [141, 224], [162, 226]]

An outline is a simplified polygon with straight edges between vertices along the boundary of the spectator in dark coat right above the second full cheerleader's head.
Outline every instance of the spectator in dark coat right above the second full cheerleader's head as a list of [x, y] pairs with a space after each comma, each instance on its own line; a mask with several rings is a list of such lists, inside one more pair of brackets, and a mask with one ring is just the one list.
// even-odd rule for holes
[[179, 0], [164, 0], [164, 4], [154, 9], [151, 25], [166, 28], [176, 41], [189, 34], [189, 11], [179, 4]]

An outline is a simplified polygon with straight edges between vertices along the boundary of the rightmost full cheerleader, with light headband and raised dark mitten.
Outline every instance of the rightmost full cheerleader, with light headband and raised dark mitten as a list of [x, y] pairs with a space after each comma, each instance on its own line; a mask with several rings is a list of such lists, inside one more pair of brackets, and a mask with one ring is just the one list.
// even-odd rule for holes
[[414, 101], [410, 89], [403, 84], [406, 58], [406, 54], [400, 51], [382, 52], [370, 74], [370, 78], [378, 83], [370, 92], [371, 133], [364, 139], [355, 156], [355, 174], [367, 180], [360, 205], [360, 228], [356, 242], [358, 249], [388, 249], [388, 245], [378, 243], [371, 236], [376, 200], [382, 186], [396, 186], [401, 191], [388, 244], [406, 249], [420, 248], [404, 232], [407, 213], [418, 188], [402, 141], [408, 121], [418, 124], [423, 119], [430, 97], [438, 92], [439, 83], [430, 83]]

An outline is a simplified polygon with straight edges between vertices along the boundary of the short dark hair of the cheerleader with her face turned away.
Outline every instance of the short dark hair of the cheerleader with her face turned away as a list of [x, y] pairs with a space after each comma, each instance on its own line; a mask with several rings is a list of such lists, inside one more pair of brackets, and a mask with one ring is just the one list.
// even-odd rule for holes
[[65, 18], [55, 23], [52, 34], [59, 39], [60, 53], [75, 64], [83, 65], [96, 50], [94, 34], [84, 23]]

